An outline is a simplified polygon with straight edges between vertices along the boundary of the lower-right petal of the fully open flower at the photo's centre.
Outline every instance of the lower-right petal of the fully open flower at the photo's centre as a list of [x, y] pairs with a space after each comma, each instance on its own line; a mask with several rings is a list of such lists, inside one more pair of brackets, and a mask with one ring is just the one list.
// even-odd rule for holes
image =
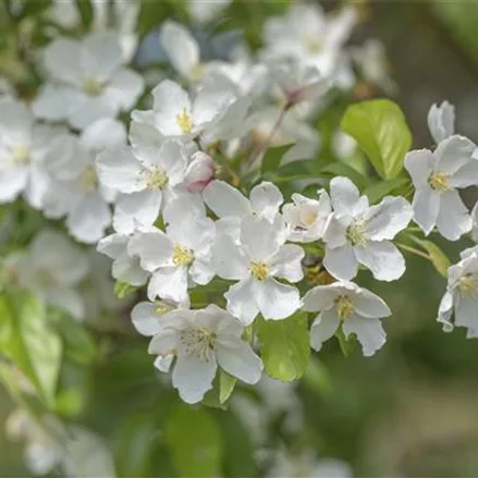
[[252, 292], [256, 305], [266, 320], [285, 319], [302, 305], [296, 287], [281, 284], [274, 279], [254, 281]]

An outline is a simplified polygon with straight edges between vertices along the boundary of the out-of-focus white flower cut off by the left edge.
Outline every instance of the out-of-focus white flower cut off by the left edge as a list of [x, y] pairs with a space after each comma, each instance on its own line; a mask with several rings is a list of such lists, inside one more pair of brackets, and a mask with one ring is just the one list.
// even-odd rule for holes
[[0, 100], [0, 203], [12, 203], [23, 194], [30, 206], [42, 207], [49, 185], [45, 157], [60, 132], [35, 123], [21, 101]]

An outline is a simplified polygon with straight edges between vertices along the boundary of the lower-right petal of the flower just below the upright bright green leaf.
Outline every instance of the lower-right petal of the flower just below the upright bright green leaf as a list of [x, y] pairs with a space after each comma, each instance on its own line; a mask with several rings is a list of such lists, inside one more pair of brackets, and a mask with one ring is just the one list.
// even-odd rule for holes
[[389, 241], [371, 241], [366, 246], [354, 246], [354, 253], [378, 281], [395, 281], [405, 272], [402, 253]]

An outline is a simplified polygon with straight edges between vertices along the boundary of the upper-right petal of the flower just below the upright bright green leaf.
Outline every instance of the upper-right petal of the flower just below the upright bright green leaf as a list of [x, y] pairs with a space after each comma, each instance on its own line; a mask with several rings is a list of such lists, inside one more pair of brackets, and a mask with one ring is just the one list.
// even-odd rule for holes
[[388, 196], [367, 213], [367, 235], [372, 241], [392, 240], [408, 225], [413, 216], [413, 208], [406, 199]]

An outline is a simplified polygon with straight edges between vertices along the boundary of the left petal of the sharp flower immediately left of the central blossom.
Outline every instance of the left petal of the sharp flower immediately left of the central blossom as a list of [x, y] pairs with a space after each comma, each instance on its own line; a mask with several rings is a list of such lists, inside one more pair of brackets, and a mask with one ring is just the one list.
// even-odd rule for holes
[[127, 245], [130, 256], [139, 256], [143, 269], [154, 271], [171, 265], [173, 244], [159, 229], [134, 235]]

